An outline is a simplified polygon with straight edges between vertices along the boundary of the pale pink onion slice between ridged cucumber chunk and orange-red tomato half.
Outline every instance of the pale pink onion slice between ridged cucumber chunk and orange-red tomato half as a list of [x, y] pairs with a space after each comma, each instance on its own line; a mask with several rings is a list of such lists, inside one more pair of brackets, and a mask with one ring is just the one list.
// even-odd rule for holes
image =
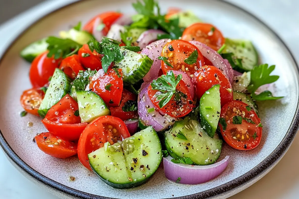
[[147, 55], [149, 58], [154, 60], [149, 72], [143, 78], [144, 82], [149, 82], [158, 77], [159, 70], [161, 68], [161, 60], [159, 60], [158, 57], [161, 56], [161, 51], [165, 44], [167, 44], [167, 40], [168, 39], [160, 39], [154, 41], [141, 50], [141, 54]]

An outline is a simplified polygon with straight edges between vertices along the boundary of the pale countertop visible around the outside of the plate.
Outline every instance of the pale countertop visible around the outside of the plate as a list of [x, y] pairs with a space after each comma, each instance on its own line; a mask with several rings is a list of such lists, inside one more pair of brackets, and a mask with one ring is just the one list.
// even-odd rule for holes
[[[60, 0], [50, 0], [39, 5], [42, 7]], [[66, 3], [68, 0], [65, 0]], [[268, 24], [286, 42], [296, 60], [299, 60], [299, 12], [298, 0], [227, 0], [250, 11]], [[28, 14], [30, 10], [22, 15]], [[36, 15], [38, 15], [36, 13]], [[0, 55], [14, 38], [13, 30], [22, 28], [22, 16], [17, 16], [0, 26]], [[299, 195], [299, 136], [296, 136], [292, 146], [282, 160], [264, 178], [232, 196], [230, 199], [272, 198], [295, 199]], [[7, 160], [0, 150], [0, 198], [5, 199], [57, 199], [41, 189]]]

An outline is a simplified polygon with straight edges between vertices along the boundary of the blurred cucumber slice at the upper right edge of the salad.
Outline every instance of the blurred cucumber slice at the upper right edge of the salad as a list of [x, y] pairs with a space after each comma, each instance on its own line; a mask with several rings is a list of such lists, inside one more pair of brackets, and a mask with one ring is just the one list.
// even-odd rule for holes
[[245, 71], [257, 66], [259, 56], [251, 41], [225, 38], [225, 45], [222, 53], [234, 53], [233, 59], [242, 59], [242, 69]]

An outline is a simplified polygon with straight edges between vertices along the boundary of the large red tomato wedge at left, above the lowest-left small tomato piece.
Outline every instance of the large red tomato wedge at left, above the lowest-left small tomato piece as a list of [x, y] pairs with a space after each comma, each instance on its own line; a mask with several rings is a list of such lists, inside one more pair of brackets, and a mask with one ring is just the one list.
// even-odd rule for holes
[[87, 123], [75, 115], [78, 112], [78, 103], [69, 95], [65, 95], [46, 114], [42, 123], [54, 136], [67, 140], [78, 140]]

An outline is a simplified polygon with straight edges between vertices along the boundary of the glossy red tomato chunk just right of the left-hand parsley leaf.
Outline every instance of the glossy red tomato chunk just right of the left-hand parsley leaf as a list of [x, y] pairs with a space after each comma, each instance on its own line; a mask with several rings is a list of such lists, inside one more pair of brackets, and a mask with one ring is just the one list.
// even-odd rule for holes
[[[84, 57], [84, 55], [89, 54], [89, 56]], [[81, 64], [85, 68], [90, 68], [91, 70], [100, 70], [102, 68], [102, 55], [97, 53], [97, 51], [89, 50], [87, 44], [84, 44], [78, 51], [79, 59]]]

